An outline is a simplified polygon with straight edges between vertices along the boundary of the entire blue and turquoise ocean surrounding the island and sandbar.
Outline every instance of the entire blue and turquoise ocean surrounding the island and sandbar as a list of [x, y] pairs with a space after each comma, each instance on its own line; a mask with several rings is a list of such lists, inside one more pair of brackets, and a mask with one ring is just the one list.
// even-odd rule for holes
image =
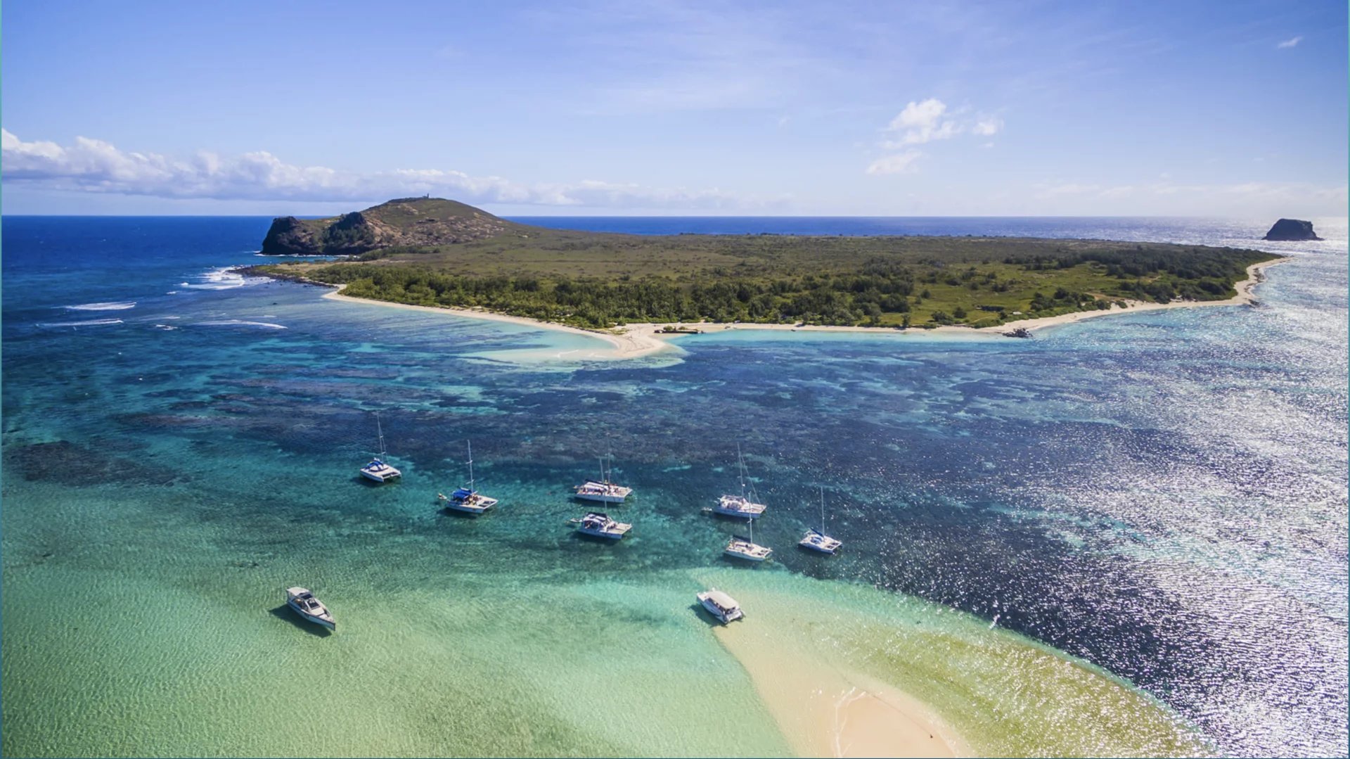
[[[263, 217], [3, 219], [0, 751], [791, 755], [740, 646], [992, 755], [1347, 754], [1347, 224], [531, 217], [1256, 247], [1256, 307], [1031, 340], [595, 339], [240, 277]], [[373, 486], [375, 412], [402, 482]], [[473, 442], [489, 515], [440, 512]], [[768, 504], [772, 560], [721, 556]], [[578, 539], [570, 486], [634, 496]], [[837, 556], [799, 552], [824, 489]], [[321, 635], [284, 605], [316, 592]], [[747, 619], [711, 629], [707, 586]], [[728, 740], [733, 736], [733, 740]]]

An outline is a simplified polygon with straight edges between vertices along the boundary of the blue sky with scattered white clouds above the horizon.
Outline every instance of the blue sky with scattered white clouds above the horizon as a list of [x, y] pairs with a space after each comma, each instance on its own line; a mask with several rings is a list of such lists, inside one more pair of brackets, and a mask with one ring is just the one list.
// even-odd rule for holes
[[1338, 1], [0, 8], [0, 212], [1345, 216]]

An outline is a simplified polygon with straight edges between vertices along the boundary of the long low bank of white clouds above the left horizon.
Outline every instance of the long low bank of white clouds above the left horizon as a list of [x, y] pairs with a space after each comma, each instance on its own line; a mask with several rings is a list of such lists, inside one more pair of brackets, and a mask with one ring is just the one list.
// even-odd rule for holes
[[89, 138], [73, 145], [24, 142], [0, 128], [7, 184], [54, 190], [139, 194], [166, 199], [364, 201], [427, 194], [464, 203], [603, 205], [609, 208], [757, 208], [771, 203], [718, 189], [645, 188], [594, 180], [525, 184], [443, 169], [342, 172], [296, 166], [267, 151], [190, 158], [130, 153]]

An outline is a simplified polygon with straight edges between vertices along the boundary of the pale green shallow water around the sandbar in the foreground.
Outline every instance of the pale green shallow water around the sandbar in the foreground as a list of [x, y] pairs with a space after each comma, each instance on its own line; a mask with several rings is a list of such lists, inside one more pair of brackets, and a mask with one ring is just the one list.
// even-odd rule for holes
[[[1165, 709], [969, 614], [772, 565], [644, 569], [641, 540], [575, 539], [566, 502], [204, 528], [155, 490], [9, 488], [8, 756], [791, 755], [694, 608], [709, 585], [747, 608], [741, 632], [911, 693], [979, 752], [1202, 751]], [[547, 525], [529, 548], [473, 536], [521, 520]], [[284, 605], [292, 582], [338, 632]]]

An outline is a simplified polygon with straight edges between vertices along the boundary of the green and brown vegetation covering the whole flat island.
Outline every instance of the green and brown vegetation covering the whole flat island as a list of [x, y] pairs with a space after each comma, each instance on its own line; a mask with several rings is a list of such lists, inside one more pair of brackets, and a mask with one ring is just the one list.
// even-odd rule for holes
[[359, 220], [324, 220], [332, 223], [325, 228], [336, 227], [344, 242], [393, 239], [378, 231], [392, 227], [382, 221], [389, 205], [413, 231], [441, 226], [427, 221], [439, 208], [459, 219], [467, 208], [481, 215], [470, 216], [478, 228], [501, 228], [464, 242], [389, 244], [340, 262], [254, 270], [343, 284], [354, 297], [485, 308], [585, 328], [703, 320], [988, 327], [1126, 300], [1223, 300], [1237, 294], [1247, 266], [1277, 258], [1106, 240], [578, 232], [435, 199], [393, 201]]

